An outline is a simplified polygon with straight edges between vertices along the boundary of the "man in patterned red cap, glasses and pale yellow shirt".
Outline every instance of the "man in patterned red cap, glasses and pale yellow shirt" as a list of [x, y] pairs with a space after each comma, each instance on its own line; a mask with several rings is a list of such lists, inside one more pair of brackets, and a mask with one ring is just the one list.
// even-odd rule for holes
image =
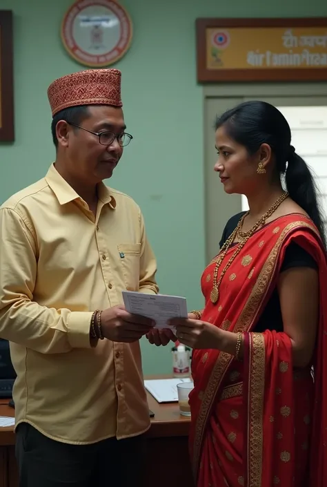
[[121, 73], [62, 77], [48, 98], [55, 162], [0, 209], [19, 485], [141, 486], [150, 419], [139, 338], [153, 323], [128, 314], [121, 292], [158, 287], [139, 207], [102, 182], [132, 140]]

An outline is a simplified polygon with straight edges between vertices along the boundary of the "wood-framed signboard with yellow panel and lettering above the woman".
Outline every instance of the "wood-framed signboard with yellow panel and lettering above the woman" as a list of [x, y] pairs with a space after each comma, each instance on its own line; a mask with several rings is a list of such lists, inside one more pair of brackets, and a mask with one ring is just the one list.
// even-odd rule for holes
[[197, 19], [197, 80], [327, 81], [327, 18]]

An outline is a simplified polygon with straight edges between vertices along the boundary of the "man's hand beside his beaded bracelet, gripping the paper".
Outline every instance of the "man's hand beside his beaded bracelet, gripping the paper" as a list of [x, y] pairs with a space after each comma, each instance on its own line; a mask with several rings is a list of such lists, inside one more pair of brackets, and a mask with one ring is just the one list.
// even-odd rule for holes
[[104, 338], [111, 341], [132, 343], [146, 335], [155, 323], [145, 316], [130, 314], [123, 306], [104, 309], [101, 313], [101, 329]]

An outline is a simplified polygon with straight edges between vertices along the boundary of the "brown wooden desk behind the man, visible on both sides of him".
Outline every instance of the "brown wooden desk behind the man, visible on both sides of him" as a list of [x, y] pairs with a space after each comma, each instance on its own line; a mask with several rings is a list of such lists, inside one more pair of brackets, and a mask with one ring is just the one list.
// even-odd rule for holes
[[[13, 417], [14, 410], [5, 401], [0, 401], [0, 416]], [[147, 433], [147, 477], [142, 487], [193, 487], [188, 457], [190, 419], [179, 414], [177, 404], [159, 404], [150, 394], [148, 404], [155, 417]], [[1, 428], [0, 487], [18, 485], [14, 428]]]

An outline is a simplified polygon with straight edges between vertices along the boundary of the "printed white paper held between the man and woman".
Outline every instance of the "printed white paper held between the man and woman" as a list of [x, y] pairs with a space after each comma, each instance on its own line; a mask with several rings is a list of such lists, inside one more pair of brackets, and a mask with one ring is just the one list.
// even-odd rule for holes
[[167, 323], [170, 318], [188, 317], [186, 298], [180, 296], [123, 291], [123, 303], [129, 313], [146, 316], [155, 321], [155, 328], [171, 329]]

